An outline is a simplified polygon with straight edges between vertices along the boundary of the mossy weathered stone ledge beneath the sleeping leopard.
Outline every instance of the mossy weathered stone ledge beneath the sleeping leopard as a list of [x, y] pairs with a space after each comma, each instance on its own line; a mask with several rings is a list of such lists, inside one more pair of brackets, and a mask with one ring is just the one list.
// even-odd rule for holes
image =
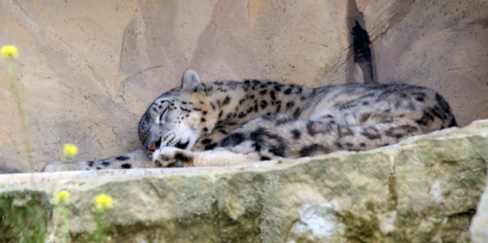
[[[469, 242], [486, 184], [487, 147], [488, 121], [478, 121], [366, 152], [213, 168], [10, 174], [0, 183], [47, 198], [68, 190], [72, 242], [93, 232], [93, 199], [105, 193], [114, 198], [108, 215], [118, 243], [461, 243]], [[59, 229], [61, 216], [52, 212], [48, 226]]]

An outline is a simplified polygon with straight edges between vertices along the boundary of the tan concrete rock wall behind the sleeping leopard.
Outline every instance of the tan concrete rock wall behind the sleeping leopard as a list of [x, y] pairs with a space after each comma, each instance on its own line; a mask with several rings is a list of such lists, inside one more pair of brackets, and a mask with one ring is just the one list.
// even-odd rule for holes
[[[488, 118], [488, 1], [0, 0], [19, 48], [34, 169], [64, 143], [91, 160], [141, 147], [137, 123], [183, 70], [203, 81], [405, 82], [440, 92], [458, 124]], [[0, 170], [27, 171], [6, 69]]]

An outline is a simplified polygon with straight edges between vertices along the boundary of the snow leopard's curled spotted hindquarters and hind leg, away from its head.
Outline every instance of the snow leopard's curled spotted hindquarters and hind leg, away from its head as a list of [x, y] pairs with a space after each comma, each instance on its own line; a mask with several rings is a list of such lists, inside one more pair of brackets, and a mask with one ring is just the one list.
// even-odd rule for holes
[[247, 121], [218, 144], [262, 160], [339, 150], [362, 151], [456, 125], [437, 92], [407, 84], [346, 84], [313, 89], [298, 117]]

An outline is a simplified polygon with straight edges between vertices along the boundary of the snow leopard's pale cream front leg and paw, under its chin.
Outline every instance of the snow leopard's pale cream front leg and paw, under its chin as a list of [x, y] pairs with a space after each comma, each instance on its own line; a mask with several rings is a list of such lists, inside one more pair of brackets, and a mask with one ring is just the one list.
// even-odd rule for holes
[[259, 160], [258, 153], [241, 154], [222, 148], [194, 152], [176, 147], [163, 147], [153, 153], [153, 162], [158, 167], [224, 166]]

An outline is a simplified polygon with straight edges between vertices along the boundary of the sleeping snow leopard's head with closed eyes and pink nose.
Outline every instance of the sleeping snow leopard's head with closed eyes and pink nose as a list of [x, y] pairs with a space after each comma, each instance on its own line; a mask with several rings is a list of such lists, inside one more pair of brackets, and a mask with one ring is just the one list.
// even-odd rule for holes
[[144, 148], [150, 155], [163, 146], [191, 149], [215, 126], [217, 117], [210, 102], [198, 74], [184, 71], [182, 85], [156, 99], [139, 121]]

